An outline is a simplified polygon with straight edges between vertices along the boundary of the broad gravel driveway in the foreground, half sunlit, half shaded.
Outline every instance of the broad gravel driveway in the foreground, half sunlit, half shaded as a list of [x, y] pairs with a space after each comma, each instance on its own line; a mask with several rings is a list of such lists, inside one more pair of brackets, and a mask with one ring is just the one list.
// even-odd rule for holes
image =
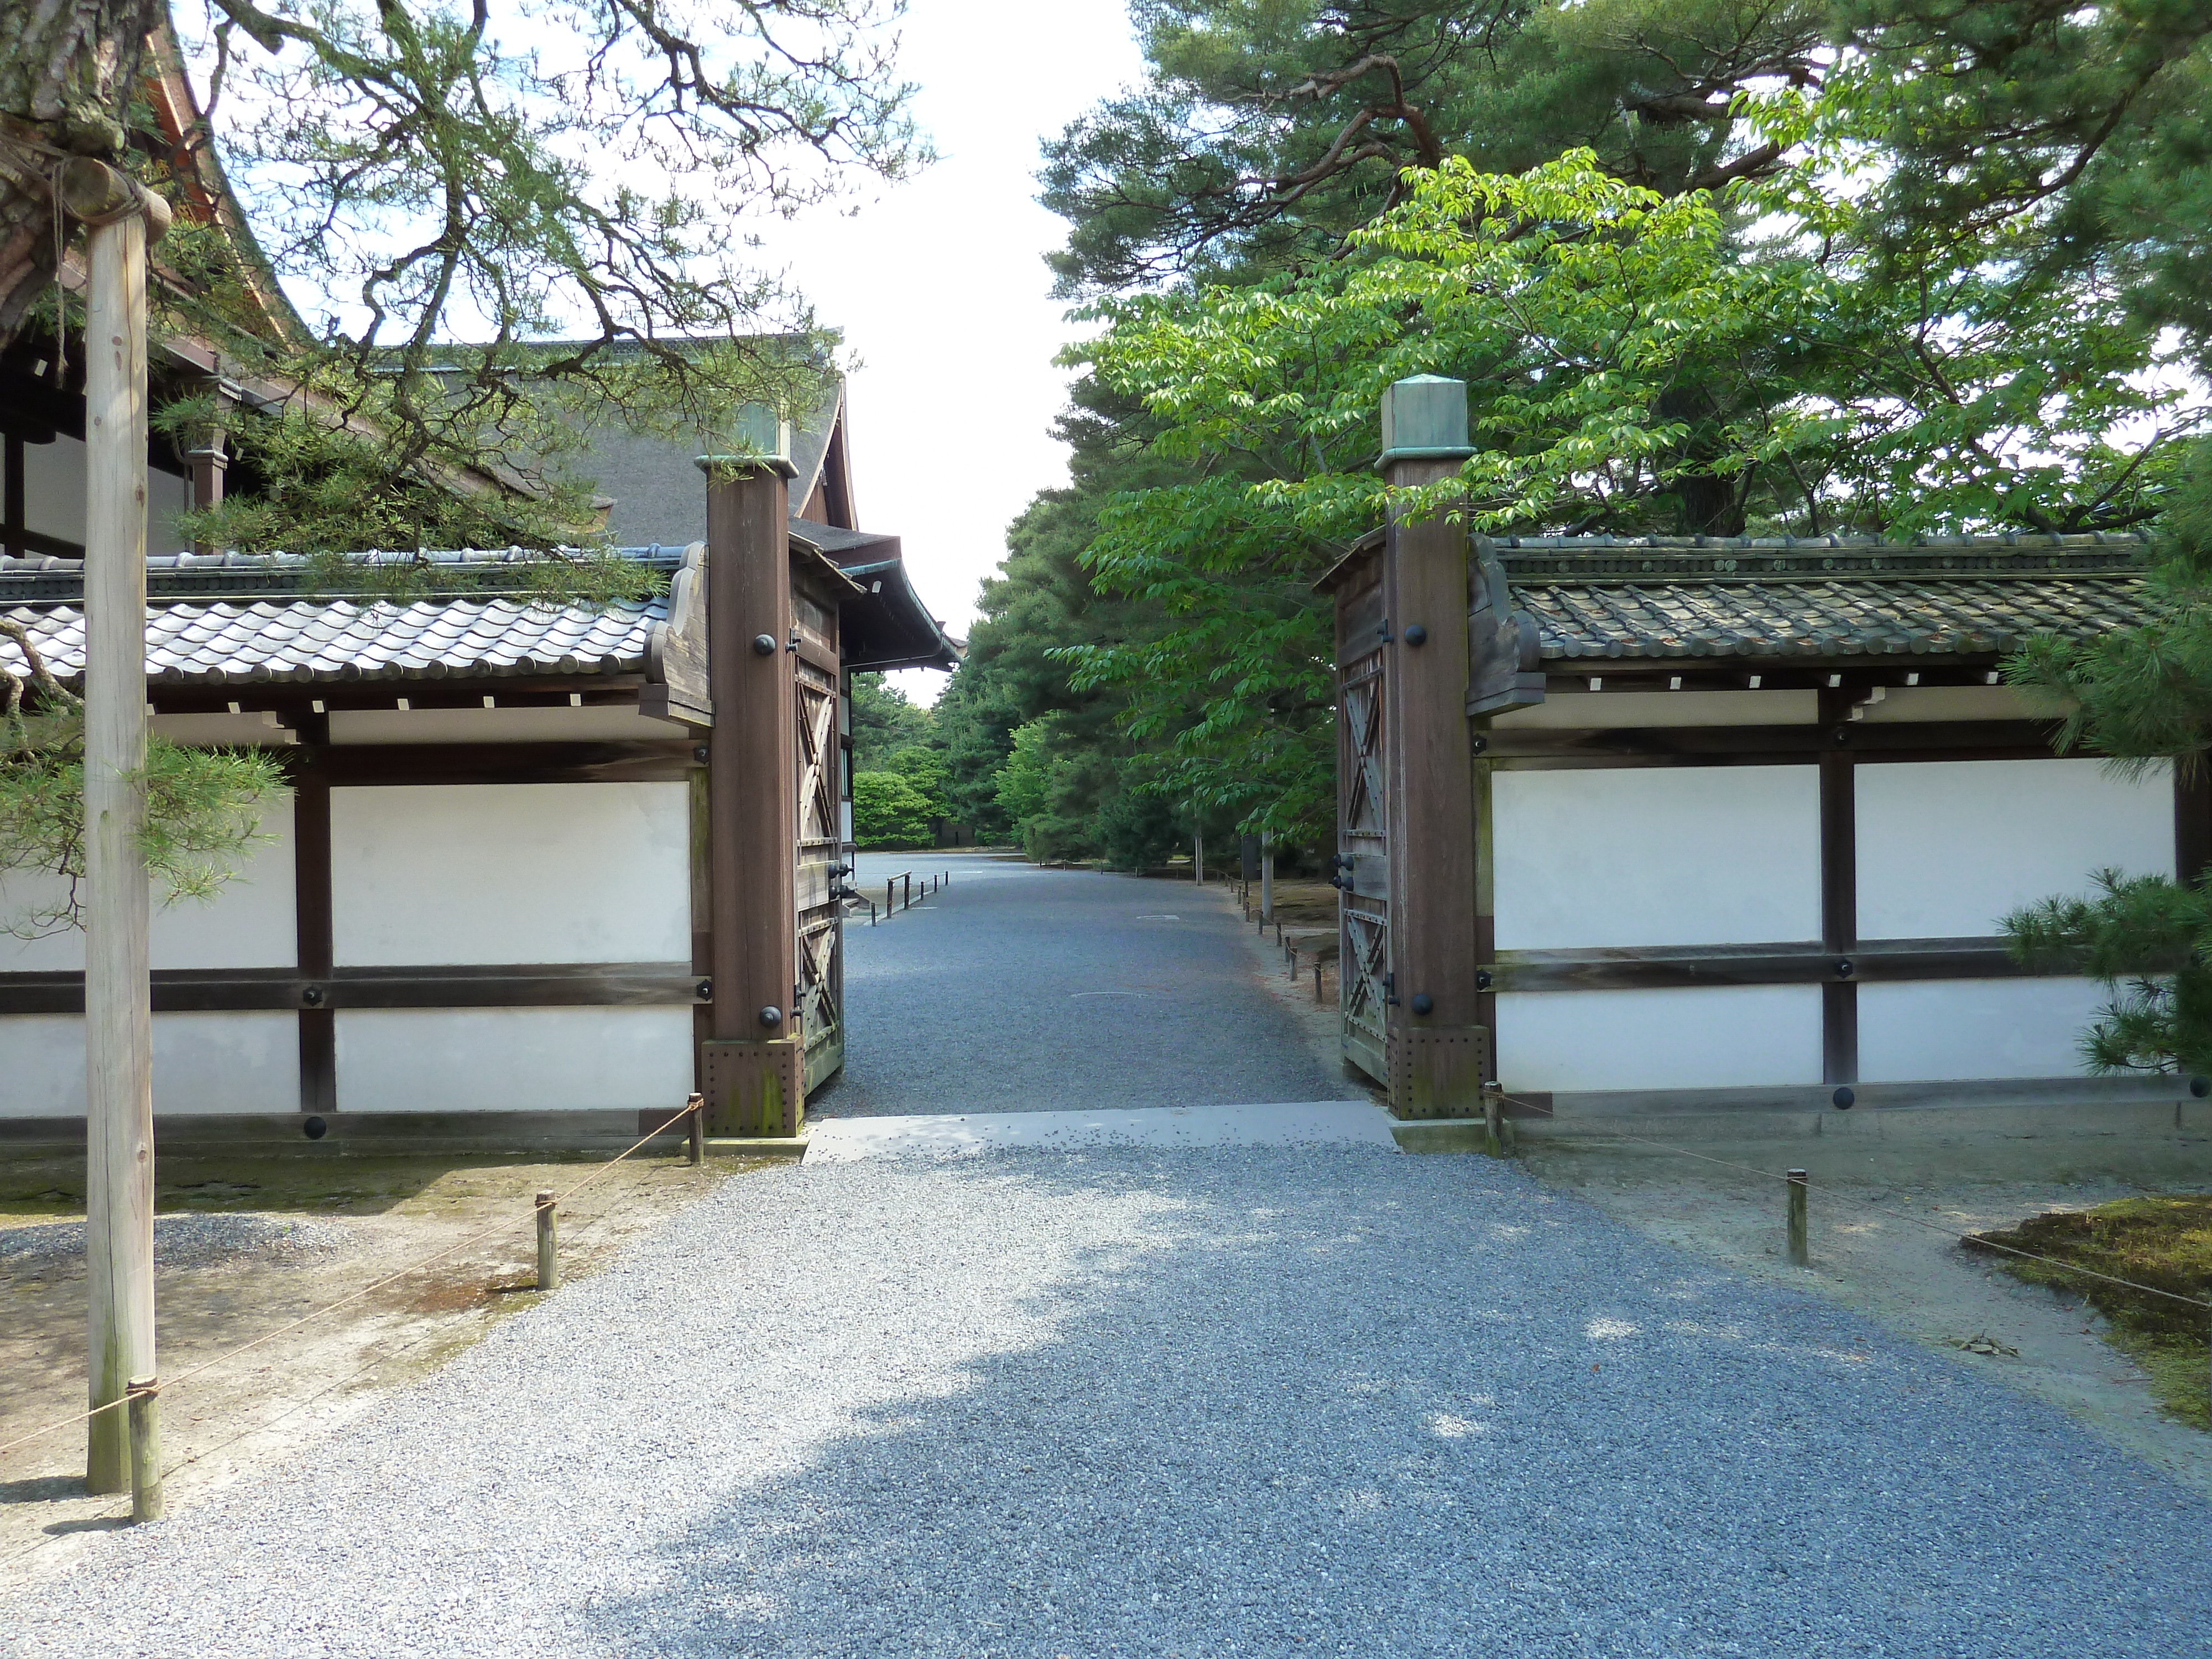
[[2212, 1506], [1486, 1159], [730, 1181], [9, 1655], [2212, 1650]]

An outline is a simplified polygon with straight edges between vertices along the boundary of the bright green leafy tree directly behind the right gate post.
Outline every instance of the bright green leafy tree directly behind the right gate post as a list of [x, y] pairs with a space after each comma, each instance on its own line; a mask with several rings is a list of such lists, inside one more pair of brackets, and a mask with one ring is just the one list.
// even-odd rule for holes
[[[1767, 119], [1792, 139], [1792, 111]], [[1590, 153], [1522, 175], [1447, 159], [1312, 274], [1102, 301], [1082, 349], [1161, 422], [1183, 480], [1119, 495], [1082, 560], [1168, 626], [1066, 646], [1168, 779], [1241, 823], [1318, 834], [1334, 801], [1327, 619], [1312, 580], [1391, 511], [1491, 533], [2104, 529], [2157, 511], [2201, 422], [2119, 299], [1991, 279], [1958, 246], [1882, 276], [1847, 199], [1736, 188], [1790, 219], [1621, 184]], [[1900, 349], [1900, 341], [1905, 349]], [[1473, 458], [1389, 491], [1383, 389], [1471, 387]], [[2148, 429], [2141, 447], [2115, 429]], [[1721, 518], [1714, 524], [1714, 515]]]

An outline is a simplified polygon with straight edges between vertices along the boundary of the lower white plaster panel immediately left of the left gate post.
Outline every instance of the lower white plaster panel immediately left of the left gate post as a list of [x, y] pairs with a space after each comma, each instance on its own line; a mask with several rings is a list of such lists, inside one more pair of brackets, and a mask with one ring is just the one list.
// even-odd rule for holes
[[690, 1009], [341, 1009], [338, 1110], [681, 1106]]

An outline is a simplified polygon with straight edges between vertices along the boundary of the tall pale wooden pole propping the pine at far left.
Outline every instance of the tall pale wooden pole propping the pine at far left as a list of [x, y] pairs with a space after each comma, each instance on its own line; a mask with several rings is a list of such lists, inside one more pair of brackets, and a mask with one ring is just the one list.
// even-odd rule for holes
[[[153, 1356], [153, 995], [146, 978], [146, 243], [168, 210], [100, 161], [62, 170], [86, 223], [84, 1256], [88, 1402]], [[146, 1407], [150, 1409], [150, 1405]], [[131, 1484], [131, 1418], [91, 1418], [84, 1484]]]

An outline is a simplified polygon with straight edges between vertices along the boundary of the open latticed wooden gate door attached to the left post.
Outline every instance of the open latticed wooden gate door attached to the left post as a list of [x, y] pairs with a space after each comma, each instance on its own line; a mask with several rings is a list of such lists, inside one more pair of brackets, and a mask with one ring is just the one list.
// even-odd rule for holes
[[[801, 599], [801, 630], [807, 606]], [[834, 622], [830, 624], [836, 626]], [[805, 1091], [812, 1095], [845, 1064], [845, 911], [838, 867], [845, 863], [843, 745], [838, 743], [838, 675], [794, 657], [799, 679], [799, 1037], [805, 1042]]]

